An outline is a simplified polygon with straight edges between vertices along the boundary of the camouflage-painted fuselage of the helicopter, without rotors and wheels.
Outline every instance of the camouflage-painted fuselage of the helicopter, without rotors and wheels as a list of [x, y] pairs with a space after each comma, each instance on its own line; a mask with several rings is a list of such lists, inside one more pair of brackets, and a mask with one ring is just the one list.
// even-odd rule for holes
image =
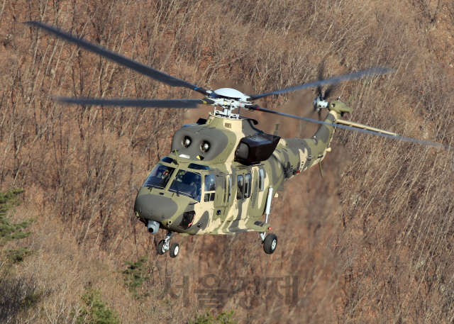
[[[325, 121], [335, 123], [337, 118], [338, 113], [330, 111]], [[256, 123], [210, 113], [206, 121], [177, 130], [172, 152], [158, 162], [138, 192], [136, 216], [145, 225], [153, 220], [182, 235], [267, 227], [260, 218], [270, 187], [280, 191], [284, 181], [321, 162], [334, 128], [321, 125], [309, 139], [281, 138], [267, 160], [238, 162], [241, 140], [263, 134]]]

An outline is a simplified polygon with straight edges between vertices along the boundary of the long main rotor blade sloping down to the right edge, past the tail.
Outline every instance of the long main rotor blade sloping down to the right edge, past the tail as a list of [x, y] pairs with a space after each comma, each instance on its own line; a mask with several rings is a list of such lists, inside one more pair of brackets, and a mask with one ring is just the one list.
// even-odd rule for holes
[[336, 128], [346, 129], [346, 130], [354, 130], [355, 132], [358, 132], [358, 133], [377, 135], [377, 136], [381, 136], [383, 138], [392, 138], [394, 140], [403, 140], [404, 142], [409, 142], [409, 143], [416, 143], [416, 144], [421, 144], [421, 145], [433, 146], [433, 147], [437, 147], [437, 148], [443, 148], [445, 150], [453, 150], [453, 148], [454, 148], [454, 147], [451, 147], [449, 145], [444, 145], [444, 144], [441, 144], [441, 143], [431, 142], [429, 140], [417, 140], [416, 138], [406, 138], [406, 137], [400, 136], [400, 135], [389, 135], [389, 134], [385, 134], [385, 133], [377, 133], [377, 132], [372, 131], [372, 130], [365, 130], [365, 129], [362, 129], [362, 128], [355, 128], [355, 127], [347, 126], [347, 125], [339, 125], [337, 123], [327, 123], [326, 121], [316, 121], [315, 119], [304, 118], [304, 117], [299, 117], [299, 116], [295, 116], [295, 115], [290, 115], [289, 113], [279, 113], [278, 111], [272, 111], [270, 109], [261, 108], [259, 106], [247, 106], [245, 108], [250, 109], [250, 110], [255, 110], [255, 111], [264, 111], [265, 113], [274, 113], [275, 115], [279, 115], [279, 116], [286, 116], [286, 117], [290, 117], [290, 118], [296, 118], [296, 119], [300, 119], [302, 121], [311, 121], [313, 123], [319, 123], [319, 124], [328, 125], [328, 126], [331, 126], [331, 127], [336, 127]]

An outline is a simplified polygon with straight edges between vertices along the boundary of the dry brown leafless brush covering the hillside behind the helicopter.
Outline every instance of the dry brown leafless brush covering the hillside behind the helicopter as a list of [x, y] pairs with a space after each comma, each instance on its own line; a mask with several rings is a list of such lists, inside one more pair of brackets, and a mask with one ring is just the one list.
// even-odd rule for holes
[[[242, 234], [177, 237], [181, 255], [157, 257], [162, 235], [135, 219], [131, 188], [169, 152], [182, 111], [60, 106], [52, 97], [192, 94], [21, 22], [47, 21], [194, 84], [228, 79], [256, 93], [315, 79], [322, 61], [327, 76], [384, 65], [396, 72], [338, 90], [357, 94], [350, 119], [453, 145], [453, 17], [442, 0], [0, 1], [0, 187], [26, 189], [14, 221], [36, 219], [33, 235], [7, 247], [38, 250], [0, 270], [40, 296], [1, 320], [74, 323], [92, 286], [123, 323], [184, 323], [204, 313], [194, 290], [215, 274], [225, 289], [240, 276], [298, 276], [297, 307], [265, 299], [263, 285], [227, 296], [222, 309], [240, 323], [451, 323], [452, 152], [341, 131], [326, 177], [311, 169], [274, 200], [274, 255]], [[261, 104], [302, 114], [305, 95], [288, 98]], [[274, 128], [274, 118], [251, 116]], [[284, 136], [303, 128], [280, 123]], [[143, 255], [150, 279], [138, 299], [119, 271]], [[187, 307], [162, 296], [166, 277], [184, 276]], [[257, 307], [240, 307], [245, 294], [260, 297]]]

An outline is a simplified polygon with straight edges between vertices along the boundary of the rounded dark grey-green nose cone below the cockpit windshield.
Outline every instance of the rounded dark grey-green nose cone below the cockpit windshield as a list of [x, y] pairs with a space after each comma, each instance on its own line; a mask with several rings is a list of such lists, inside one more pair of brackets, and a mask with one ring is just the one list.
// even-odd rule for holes
[[161, 222], [178, 211], [175, 201], [159, 194], [140, 194], [135, 199], [134, 211], [143, 218]]

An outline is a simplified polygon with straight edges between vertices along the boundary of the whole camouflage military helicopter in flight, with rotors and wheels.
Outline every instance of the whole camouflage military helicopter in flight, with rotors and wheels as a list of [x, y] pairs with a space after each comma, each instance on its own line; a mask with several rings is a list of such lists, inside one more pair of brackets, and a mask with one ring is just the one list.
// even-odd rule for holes
[[[189, 88], [205, 96], [204, 99], [187, 100], [59, 98], [62, 103], [142, 108], [196, 108], [200, 104], [214, 106], [214, 111], [209, 113], [207, 119], [200, 118], [196, 123], [184, 125], [175, 132], [170, 154], [158, 162], [138, 189], [134, 205], [137, 218], [151, 234], [158, 233], [160, 228], [167, 230], [165, 240], [157, 245], [159, 255], [167, 251], [170, 251], [170, 257], [178, 255], [178, 243], [170, 245], [174, 233], [187, 236], [258, 232], [265, 252], [275, 252], [277, 236], [267, 234], [271, 230], [268, 221], [273, 194], [283, 189], [285, 181], [316, 164], [319, 164], [323, 176], [320, 162], [331, 151], [336, 128], [433, 147], [448, 147], [345, 121], [341, 116], [351, 113], [353, 109], [340, 100], [328, 102], [325, 100], [326, 93], [325, 96], [321, 94], [321, 86], [392, 72], [386, 67], [319, 79], [265, 94], [247, 95], [236, 89], [211, 90], [199, 87], [44, 23], [28, 23], [164, 84]], [[328, 109], [324, 121], [272, 111], [253, 102], [265, 96], [312, 87], [319, 88], [319, 94], [314, 99], [314, 111]], [[221, 110], [217, 110], [218, 107]], [[236, 108], [238, 113], [233, 113]], [[240, 116], [240, 108], [321, 125], [311, 138], [282, 139], [277, 135], [277, 130], [274, 134], [266, 134], [256, 127], [257, 121]], [[265, 221], [262, 221], [260, 219], [264, 214]]]

